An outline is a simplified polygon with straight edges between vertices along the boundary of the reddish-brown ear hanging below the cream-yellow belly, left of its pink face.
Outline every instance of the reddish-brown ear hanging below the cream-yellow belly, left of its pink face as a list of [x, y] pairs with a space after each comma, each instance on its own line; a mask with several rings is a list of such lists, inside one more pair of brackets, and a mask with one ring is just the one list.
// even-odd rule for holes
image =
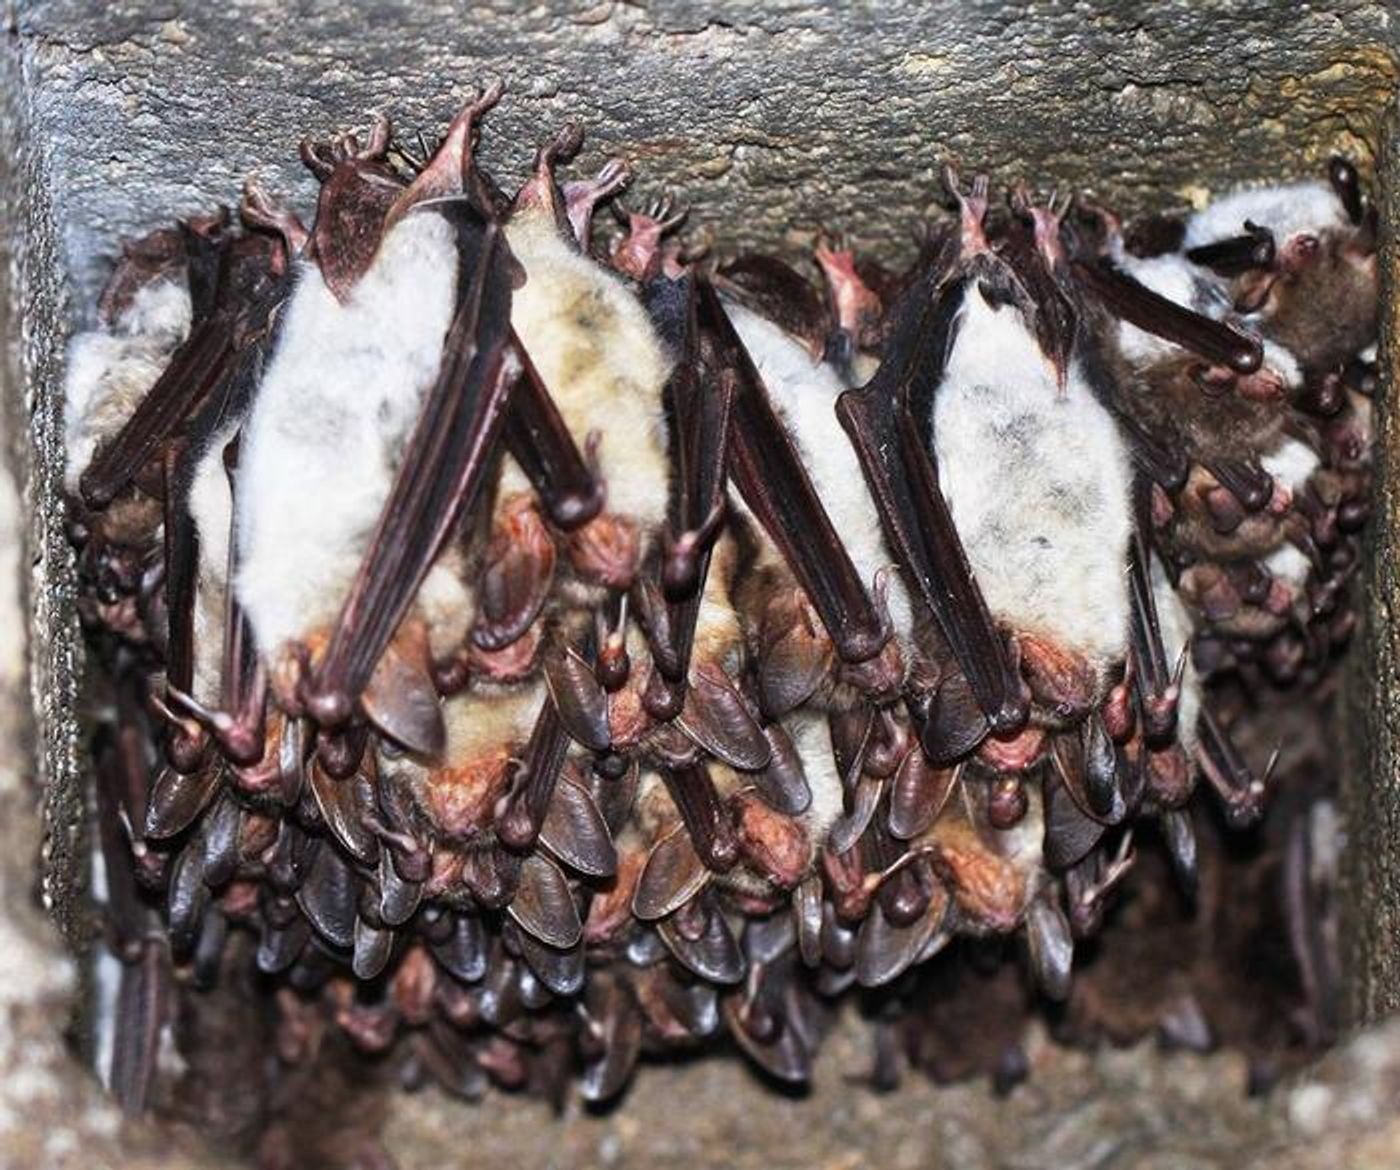
[[554, 542], [535, 501], [507, 500], [486, 550], [472, 642], [484, 651], [511, 645], [539, 617], [554, 578]]

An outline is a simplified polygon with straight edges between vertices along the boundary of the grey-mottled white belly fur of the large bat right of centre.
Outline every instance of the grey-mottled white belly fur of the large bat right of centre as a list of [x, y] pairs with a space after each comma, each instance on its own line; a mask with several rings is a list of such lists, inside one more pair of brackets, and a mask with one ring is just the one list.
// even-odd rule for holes
[[993, 614], [1106, 665], [1128, 626], [1128, 455], [1075, 361], [1064, 392], [976, 287], [934, 400], [944, 495]]

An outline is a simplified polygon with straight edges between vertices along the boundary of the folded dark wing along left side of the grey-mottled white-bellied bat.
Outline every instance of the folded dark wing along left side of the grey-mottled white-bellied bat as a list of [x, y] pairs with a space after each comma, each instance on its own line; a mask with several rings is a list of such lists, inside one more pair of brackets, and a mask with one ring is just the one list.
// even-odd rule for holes
[[[906, 302], [875, 376], [847, 390], [836, 413], [850, 435], [885, 537], [952, 649], [987, 731], [1012, 732], [1026, 718], [1021, 679], [973, 577], [925, 437], [910, 400], [937, 386], [946, 360], [962, 281], [927, 280]], [[925, 745], [925, 750], [937, 745]], [[941, 752], [931, 752], [941, 756]]]

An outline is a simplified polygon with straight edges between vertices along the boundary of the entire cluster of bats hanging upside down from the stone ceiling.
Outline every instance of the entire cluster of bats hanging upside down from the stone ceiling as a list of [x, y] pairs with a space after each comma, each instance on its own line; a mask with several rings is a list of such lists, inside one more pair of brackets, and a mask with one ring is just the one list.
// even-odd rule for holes
[[823, 1005], [955, 938], [1063, 999], [1140, 826], [1189, 889], [1196, 777], [1264, 809], [1205, 683], [1266, 705], [1351, 631], [1350, 165], [1127, 230], [948, 168], [907, 273], [818, 287], [665, 204], [595, 244], [629, 172], [560, 182], [573, 125], [503, 195], [498, 97], [305, 143], [309, 230], [249, 182], [130, 244], [73, 343], [133, 1107], [235, 961], [284, 1061], [466, 1096], [717, 1036], [801, 1082]]

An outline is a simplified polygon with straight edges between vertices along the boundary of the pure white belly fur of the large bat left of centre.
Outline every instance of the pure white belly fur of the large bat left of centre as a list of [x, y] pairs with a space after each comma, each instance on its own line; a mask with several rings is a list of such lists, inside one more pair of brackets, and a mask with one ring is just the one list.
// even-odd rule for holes
[[456, 246], [409, 214], [340, 304], [304, 265], [244, 432], [237, 589], [263, 654], [339, 613], [433, 385]]

